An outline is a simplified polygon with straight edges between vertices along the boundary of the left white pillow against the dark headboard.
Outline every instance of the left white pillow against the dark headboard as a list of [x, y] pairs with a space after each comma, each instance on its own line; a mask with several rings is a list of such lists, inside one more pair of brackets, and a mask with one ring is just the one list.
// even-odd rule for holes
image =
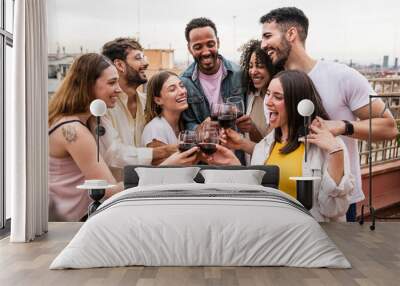
[[199, 170], [199, 167], [135, 168], [139, 176], [138, 186], [196, 183], [193, 179]]

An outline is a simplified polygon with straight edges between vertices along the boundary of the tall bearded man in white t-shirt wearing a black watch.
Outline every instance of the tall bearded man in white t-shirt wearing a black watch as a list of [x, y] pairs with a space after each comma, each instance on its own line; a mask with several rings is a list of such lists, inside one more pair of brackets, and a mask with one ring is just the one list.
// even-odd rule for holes
[[[368, 139], [369, 95], [375, 95], [368, 81], [356, 70], [343, 64], [317, 61], [305, 50], [308, 19], [295, 7], [278, 8], [260, 19], [262, 49], [275, 66], [286, 70], [301, 70], [310, 76], [331, 120], [327, 124], [331, 132], [342, 138], [349, 151], [352, 173], [356, 179], [350, 200], [348, 221], [356, 219], [355, 203], [362, 201], [361, 172], [356, 139]], [[393, 139], [397, 126], [382, 100], [372, 102], [372, 139]], [[359, 120], [357, 120], [359, 119]]]

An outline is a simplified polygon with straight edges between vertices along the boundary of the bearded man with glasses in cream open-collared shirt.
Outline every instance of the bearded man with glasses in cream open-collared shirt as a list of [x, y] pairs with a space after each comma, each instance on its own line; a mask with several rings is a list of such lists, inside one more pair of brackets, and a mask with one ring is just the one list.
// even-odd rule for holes
[[145, 125], [146, 94], [137, 89], [147, 82], [148, 62], [143, 48], [131, 38], [117, 38], [103, 46], [102, 54], [109, 58], [118, 71], [122, 89], [115, 107], [101, 118], [106, 133], [100, 137], [100, 152], [118, 180], [125, 165], [149, 165], [169, 157], [176, 145], [157, 148], [141, 146]]

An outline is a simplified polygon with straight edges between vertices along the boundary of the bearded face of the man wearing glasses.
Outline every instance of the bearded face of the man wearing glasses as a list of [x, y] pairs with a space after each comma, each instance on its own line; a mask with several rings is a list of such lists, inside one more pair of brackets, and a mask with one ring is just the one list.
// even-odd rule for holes
[[126, 55], [125, 71], [123, 76], [128, 85], [141, 85], [147, 82], [146, 70], [149, 66], [143, 51], [130, 50]]

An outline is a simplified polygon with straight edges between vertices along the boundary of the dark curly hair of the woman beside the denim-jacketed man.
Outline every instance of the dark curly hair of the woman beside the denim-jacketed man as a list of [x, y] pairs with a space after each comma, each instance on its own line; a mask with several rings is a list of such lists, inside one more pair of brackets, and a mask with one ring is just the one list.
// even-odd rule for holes
[[[253, 53], [256, 54], [256, 62], [257, 64], [262, 64], [265, 66], [265, 69], [270, 75], [270, 79], [279, 72], [276, 67], [272, 64], [271, 59], [268, 55], [261, 49], [261, 41], [259, 40], [250, 40], [245, 43], [242, 47], [242, 55], [240, 56], [240, 66], [242, 68], [242, 85], [247, 87], [247, 90], [250, 92], [256, 92], [256, 88], [253, 84], [249, 76], [250, 70], [250, 58]], [[268, 86], [269, 82], [267, 82]]]

